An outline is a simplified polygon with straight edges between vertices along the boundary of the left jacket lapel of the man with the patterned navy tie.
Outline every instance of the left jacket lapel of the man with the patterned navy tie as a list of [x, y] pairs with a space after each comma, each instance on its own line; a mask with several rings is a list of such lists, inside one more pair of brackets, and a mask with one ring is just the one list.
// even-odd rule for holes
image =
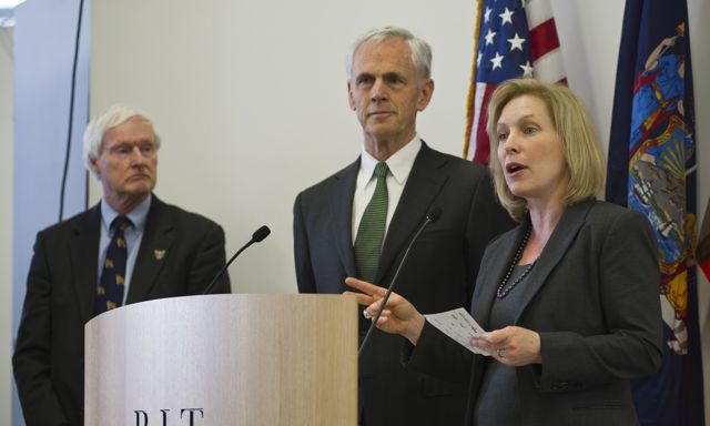
[[93, 303], [99, 283], [100, 237], [101, 209], [100, 204], [97, 204], [77, 223], [69, 241], [73, 286], [84, 323], [93, 317]]

